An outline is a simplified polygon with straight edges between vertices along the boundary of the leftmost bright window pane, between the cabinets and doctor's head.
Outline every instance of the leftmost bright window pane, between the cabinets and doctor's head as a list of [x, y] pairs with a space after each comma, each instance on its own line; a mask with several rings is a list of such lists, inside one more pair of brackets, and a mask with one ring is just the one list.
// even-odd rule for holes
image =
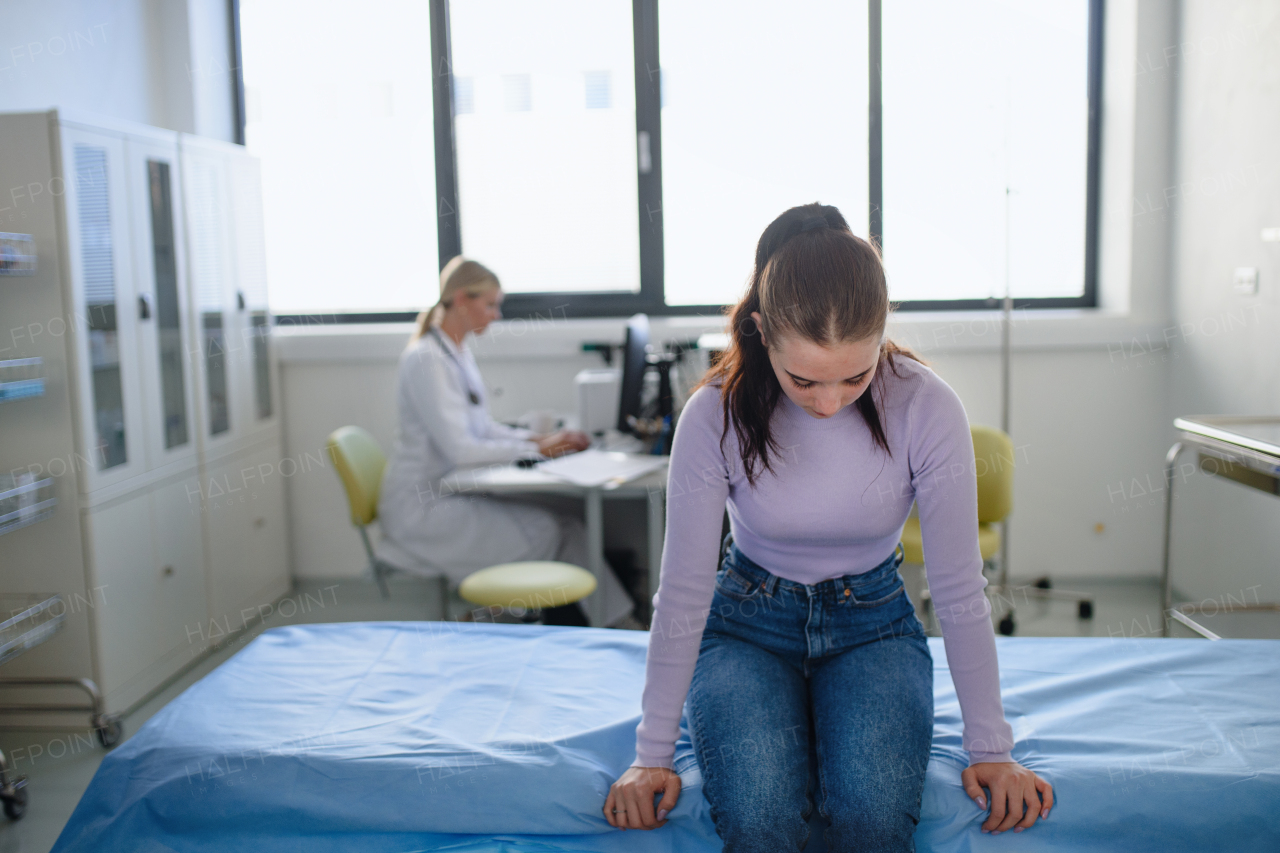
[[239, 6], [244, 141], [262, 163], [273, 311], [430, 305], [440, 268], [426, 4]]

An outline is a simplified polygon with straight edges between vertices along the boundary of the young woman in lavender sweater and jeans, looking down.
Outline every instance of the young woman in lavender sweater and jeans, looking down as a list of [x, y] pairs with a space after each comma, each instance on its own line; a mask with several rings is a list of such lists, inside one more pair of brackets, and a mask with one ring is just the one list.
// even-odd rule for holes
[[804, 848], [814, 807], [828, 850], [915, 849], [933, 661], [897, 573], [913, 501], [972, 820], [996, 835], [1048, 817], [1052, 788], [1014, 761], [1001, 704], [969, 421], [884, 337], [888, 311], [879, 250], [835, 207], [764, 229], [730, 348], [676, 426], [636, 758], [603, 807], [613, 826], [654, 829], [675, 808], [687, 701], [726, 852]]

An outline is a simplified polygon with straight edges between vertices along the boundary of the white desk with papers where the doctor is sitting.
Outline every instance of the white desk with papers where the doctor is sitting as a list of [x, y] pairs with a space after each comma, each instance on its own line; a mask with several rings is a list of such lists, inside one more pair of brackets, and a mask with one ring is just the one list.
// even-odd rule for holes
[[[481, 492], [486, 494], [566, 494], [580, 497], [585, 505], [586, 552], [591, 565], [585, 566], [596, 583], [609, 571], [604, 561], [604, 501], [607, 498], [645, 498], [649, 510], [649, 594], [658, 590], [662, 571], [662, 540], [666, 525], [667, 467], [663, 466], [622, 485], [584, 487], [539, 471], [536, 467], [515, 465], [486, 465], [463, 469], [447, 476], [443, 484], [456, 492]], [[598, 587], [599, 588], [599, 587]], [[596, 596], [591, 612], [591, 625], [604, 621], [604, 597]]]

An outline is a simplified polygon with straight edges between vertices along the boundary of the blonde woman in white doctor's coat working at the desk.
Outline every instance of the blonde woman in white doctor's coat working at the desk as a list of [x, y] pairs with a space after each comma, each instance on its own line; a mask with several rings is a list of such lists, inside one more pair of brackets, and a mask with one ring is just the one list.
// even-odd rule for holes
[[[461, 255], [440, 272], [440, 300], [419, 315], [397, 377], [399, 432], [378, 501], [378, 555], [412, 571], [440, 571], [457, 585], [502, 562], [559, 560], [588, 565], [586, 530], [577, 517], [525, 500], [451, 492], [440, 480], [460, 467], [561, 456], [585, 450], [586, 434], [535, 435], [489, 416], [480, 369], [466, 346], [502, 316], [502, 286]], [[605, 624], [628, 622], [634, 602], [605, 571]]]

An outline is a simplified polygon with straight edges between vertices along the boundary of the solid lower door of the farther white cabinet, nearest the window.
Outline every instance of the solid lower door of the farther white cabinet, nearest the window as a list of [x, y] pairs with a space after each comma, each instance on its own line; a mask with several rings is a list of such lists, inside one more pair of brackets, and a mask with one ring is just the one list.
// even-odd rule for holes
[[273, 443], [211, 467], [201, 483], [209, 615], [224, 630], [242, 628], [288, 590], [284, 476], [296, 471]]

